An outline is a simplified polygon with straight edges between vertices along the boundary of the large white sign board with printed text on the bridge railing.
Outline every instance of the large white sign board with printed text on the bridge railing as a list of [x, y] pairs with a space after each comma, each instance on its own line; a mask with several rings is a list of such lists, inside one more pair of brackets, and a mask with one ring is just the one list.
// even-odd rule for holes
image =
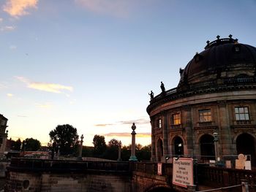
[[173, 158], [173, 184], [187, 188], [194, 185], [193, 159]]

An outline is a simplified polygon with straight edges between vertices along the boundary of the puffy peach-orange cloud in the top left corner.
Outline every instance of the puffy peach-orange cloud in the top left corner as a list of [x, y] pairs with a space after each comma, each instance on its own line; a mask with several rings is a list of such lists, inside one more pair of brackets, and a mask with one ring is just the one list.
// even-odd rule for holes
[[4, 11], [15, 18], [28, 15], [28, 9], [36, 9], [38, 0], [7, 0]]

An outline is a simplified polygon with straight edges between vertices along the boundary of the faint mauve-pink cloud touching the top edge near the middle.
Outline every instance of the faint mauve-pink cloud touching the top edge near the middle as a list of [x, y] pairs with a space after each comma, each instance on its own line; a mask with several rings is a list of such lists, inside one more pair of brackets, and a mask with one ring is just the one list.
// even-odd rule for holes
[[83, 6], [91, 12], [116, 17], [127, 17], [131, 8], [131, 1], [124, 0], [75, 0], [75, 3]]

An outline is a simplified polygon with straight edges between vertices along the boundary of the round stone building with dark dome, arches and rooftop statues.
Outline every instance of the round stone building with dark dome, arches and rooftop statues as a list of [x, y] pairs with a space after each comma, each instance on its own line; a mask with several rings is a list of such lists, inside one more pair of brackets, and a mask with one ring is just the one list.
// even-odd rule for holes
[[217, 36], [180, 69], [176, 88], [161, 88], [147, 107], [152, 161], [243, 153], [256, 166], [256, 47]]

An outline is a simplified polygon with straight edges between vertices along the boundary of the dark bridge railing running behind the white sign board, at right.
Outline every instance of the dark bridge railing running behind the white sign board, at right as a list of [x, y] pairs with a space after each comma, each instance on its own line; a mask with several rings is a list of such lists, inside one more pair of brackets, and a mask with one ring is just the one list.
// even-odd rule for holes
[[[157, 175], [157, 163], [136, 163], [132, 165], [132, 171], [148, 175]], [[195, 164], [195, 185], [207, 185], [212, 188], [241, 185], [243, 181], [249, 184], [250, 191], [256, 191], [256, 171], [244, 169], [227, 169], [206, 164]], [[162, 176], [166, 182], [172, 181], [173, 164], [162, 163]], [[235, 190], [235, 189], [233, 189]]]

